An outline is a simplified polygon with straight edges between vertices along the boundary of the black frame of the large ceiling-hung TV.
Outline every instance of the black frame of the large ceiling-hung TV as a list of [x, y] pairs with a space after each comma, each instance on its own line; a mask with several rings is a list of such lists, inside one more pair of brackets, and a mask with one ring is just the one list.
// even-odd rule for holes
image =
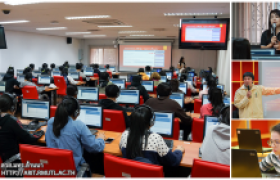
[[[207, 43], [183, 43], [181, 41], [182, 36], [182, 24], [183, 21], [194, 20], [194, 21], [226, 21], [226, 39], [223, 46], [215, 46], [215, 45], [204, 45]], [[213, 22], [215, 23], [215, 22]], [[219, 23], [219, 22], [216, 22]], [[229, 26], [230, 26], [230, 18], [181, 18], [180, 19], [180, 27], [179, 27], [179, 49], [200, 49], [200, 50], [227, 50], [227, 43], [229, 40]], [[215, 44], [215, 43], [214, 43]]]

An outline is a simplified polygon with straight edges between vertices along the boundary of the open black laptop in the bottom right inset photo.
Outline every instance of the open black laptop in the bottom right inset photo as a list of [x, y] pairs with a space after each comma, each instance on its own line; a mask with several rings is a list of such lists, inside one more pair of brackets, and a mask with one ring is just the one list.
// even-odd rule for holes
[[258, 153], [270, 152], [271, 148], [262, 147], [261, 131], [259, 129], [236, 129], [239, 149], [254, 149]]

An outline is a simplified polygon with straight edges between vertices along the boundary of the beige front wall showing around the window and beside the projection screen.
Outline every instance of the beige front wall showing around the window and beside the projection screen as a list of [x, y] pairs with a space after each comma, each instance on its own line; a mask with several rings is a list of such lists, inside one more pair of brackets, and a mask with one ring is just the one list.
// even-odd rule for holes
[[[83, 63], [89, 64], [90, 58], [90, 47], [107, 47], [113, 48], [113, 41], [115, 39], [107, 39], [107, 40], [93, 40], [87, 39], [84, 43], [84, 58]], [[181, 58], [181, 56], [185, 57], [186, 66], [194, 68], [197, 72], [200, 69], [208, 69], [208, 67], [212, 67], [213, 71], [216, 72], [217, 66], [217, 51], [215, 50], [189, 50], [189, 49], [179, 49], [178, 40], [173, 43], [172, 46], [172, 65], [177, 67], [177, 64]]]

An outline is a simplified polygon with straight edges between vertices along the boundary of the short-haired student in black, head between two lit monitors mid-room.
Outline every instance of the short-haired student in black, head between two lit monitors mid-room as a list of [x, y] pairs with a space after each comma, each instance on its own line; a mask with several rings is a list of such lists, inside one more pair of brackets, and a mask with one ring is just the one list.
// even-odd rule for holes
[[126, 110], [118, 105], [116, 102], [116, 99], [118, 98], [120, 94], [120, 89], [117, 85], [108, 85], [105, 88], [105, 95], [107, 96], [107, 99], [101, 99], [98, 103], [98, 105], [102, 106], [104, 109], [115, 109], [123, 111], [123, 116], [125, 120], [126, 128], [130, 127], [130, 121], [127, 117]]

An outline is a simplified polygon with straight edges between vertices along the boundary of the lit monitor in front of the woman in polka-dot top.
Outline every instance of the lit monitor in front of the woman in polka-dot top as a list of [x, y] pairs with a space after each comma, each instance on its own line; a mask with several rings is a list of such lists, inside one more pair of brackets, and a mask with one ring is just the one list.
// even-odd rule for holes
[[160, 134], [162, 137], [173, 136], [174, 114], [171, 112], [154, 112], [155, 122], [150, 128], [153, 133]]

